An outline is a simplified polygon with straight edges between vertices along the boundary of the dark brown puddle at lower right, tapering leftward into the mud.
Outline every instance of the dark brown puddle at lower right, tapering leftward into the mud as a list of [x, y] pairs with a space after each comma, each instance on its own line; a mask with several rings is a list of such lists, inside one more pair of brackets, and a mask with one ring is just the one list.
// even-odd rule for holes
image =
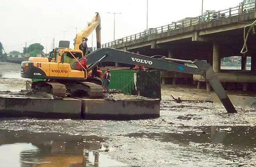
[[183, 127], [169, 133], [130, 133], [130, 138], [148, 138], [173, 143], [187, 148], [187, 151], [203, 152], [208, 156], [226, 160], [248, 159], [256, 161], [256, 128], [237, 126]]

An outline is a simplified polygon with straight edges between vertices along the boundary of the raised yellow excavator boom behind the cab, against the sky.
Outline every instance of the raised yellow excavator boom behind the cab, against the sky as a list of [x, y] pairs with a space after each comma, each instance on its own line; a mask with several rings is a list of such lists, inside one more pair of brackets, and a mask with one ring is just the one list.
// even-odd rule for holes
[[83, 42], [83, 38], [87, 38], [96, 29], [97, 48], [101, 46], [101, 18], [96, 12], [95, 17], [88, 23], [84, 30], [80, 31], [75, 38], [75, 50], [79, 50], [79, 45]]

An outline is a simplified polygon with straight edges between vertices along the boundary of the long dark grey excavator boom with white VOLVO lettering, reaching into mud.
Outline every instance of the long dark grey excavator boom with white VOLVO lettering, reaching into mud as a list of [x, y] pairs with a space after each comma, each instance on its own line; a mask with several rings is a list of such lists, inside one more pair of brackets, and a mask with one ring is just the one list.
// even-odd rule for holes
[[[152, 58], [144, 55], [129, 53], [122, 50], [117, 50], [113, 48], [101, 48], [94, 51], [91, 54], [84, 57], [87, 59], [87, 64], [89, 68], [87, 70], [93, 69], [99, 62], [118, 62], [125, 63], [130, 65], [140, 65], [151, 67], [155, 69], [167, 70], [167, 71], [176, 71], [181, 73], [188, 74], [198, 74], [203, 75], [203, 77], [210, 83], [212, 89], [215, 91], [222, 104], [226, 108], [228, 113], [236, 113], [236, 109], [231, 103], [229, 97], [227, 96], [224, 88], [218, 80], [217, 74], [212, 70], [210, 64], [195, 60], [184, 61], [179, 59], [169, 59], [165, 57], [161, 58]], [[83, 58], [82, 58], [83, 59]], [[79, 60], [80, 61], [80, 60]], [[176, 63], [179, 62], [179, 63]], [[184, 63], [194, 64], [197, 66], [190, 67], [184, 65]], [[75, 63], [72, 65], [74, 66]]]

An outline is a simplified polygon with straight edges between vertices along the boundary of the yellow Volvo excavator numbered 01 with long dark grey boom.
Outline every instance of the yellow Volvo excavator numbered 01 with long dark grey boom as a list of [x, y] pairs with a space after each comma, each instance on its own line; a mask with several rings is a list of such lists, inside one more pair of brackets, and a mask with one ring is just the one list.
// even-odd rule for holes
[[[91, 25], [95, 27], [100, 24]], [[92, 30], [90, 28], [88, 29]], [[77, 38], [81, 39], [81, 36], [78, 37], [77, 35]], [[203, 75], [214, 89], [227, 112], [236, 113], [236, 109], [219, 82], [216, 73], [208, 63], [199, 60], [184, 61], [161, 56], [147, 57], [113, 48], [99, 48], [88, 55], [83, 55], [83, 52], [76, 47], [82, 40], [76, 41], [75, 49], [60, 48], [52, 52], [49, 58], [31, 57], [29, 61], [22, 62], [21, 77], [46, 79], [46, 81], [33, 82], [32, 88], [44, 90], [56, 96], [65, 97], [67, 93], [73, 93], [77, 90], [81, 92], [80, 90], [83, 90], [90, 98], [99, 98], [103, 96], [103, 88], [101, 83], [96, 82], [94, 78], [90, 77], [89, 73], [101, 62], [117, 62], [160, 70]], [[65, 57], [73, 58], [74, 62], [65, 62]], [[77, 70], [77, 65], [81, 65], [80, 62], [83, 59], [86, 59], [87, 64], [83, 65], [83, 71]], [[197, 67], [190, 67], [184, 64], [193, 64]]]

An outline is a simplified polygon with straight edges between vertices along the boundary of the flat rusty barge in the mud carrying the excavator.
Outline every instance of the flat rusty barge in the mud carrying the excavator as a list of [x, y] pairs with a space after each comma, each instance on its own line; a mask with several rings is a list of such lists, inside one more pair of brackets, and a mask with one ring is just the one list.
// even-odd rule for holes
[[0, 117], [65, 119], [148, 119], [159, 117], [160, 100], [112, 94], [113, 98], [49, 99], [0, 95]]

